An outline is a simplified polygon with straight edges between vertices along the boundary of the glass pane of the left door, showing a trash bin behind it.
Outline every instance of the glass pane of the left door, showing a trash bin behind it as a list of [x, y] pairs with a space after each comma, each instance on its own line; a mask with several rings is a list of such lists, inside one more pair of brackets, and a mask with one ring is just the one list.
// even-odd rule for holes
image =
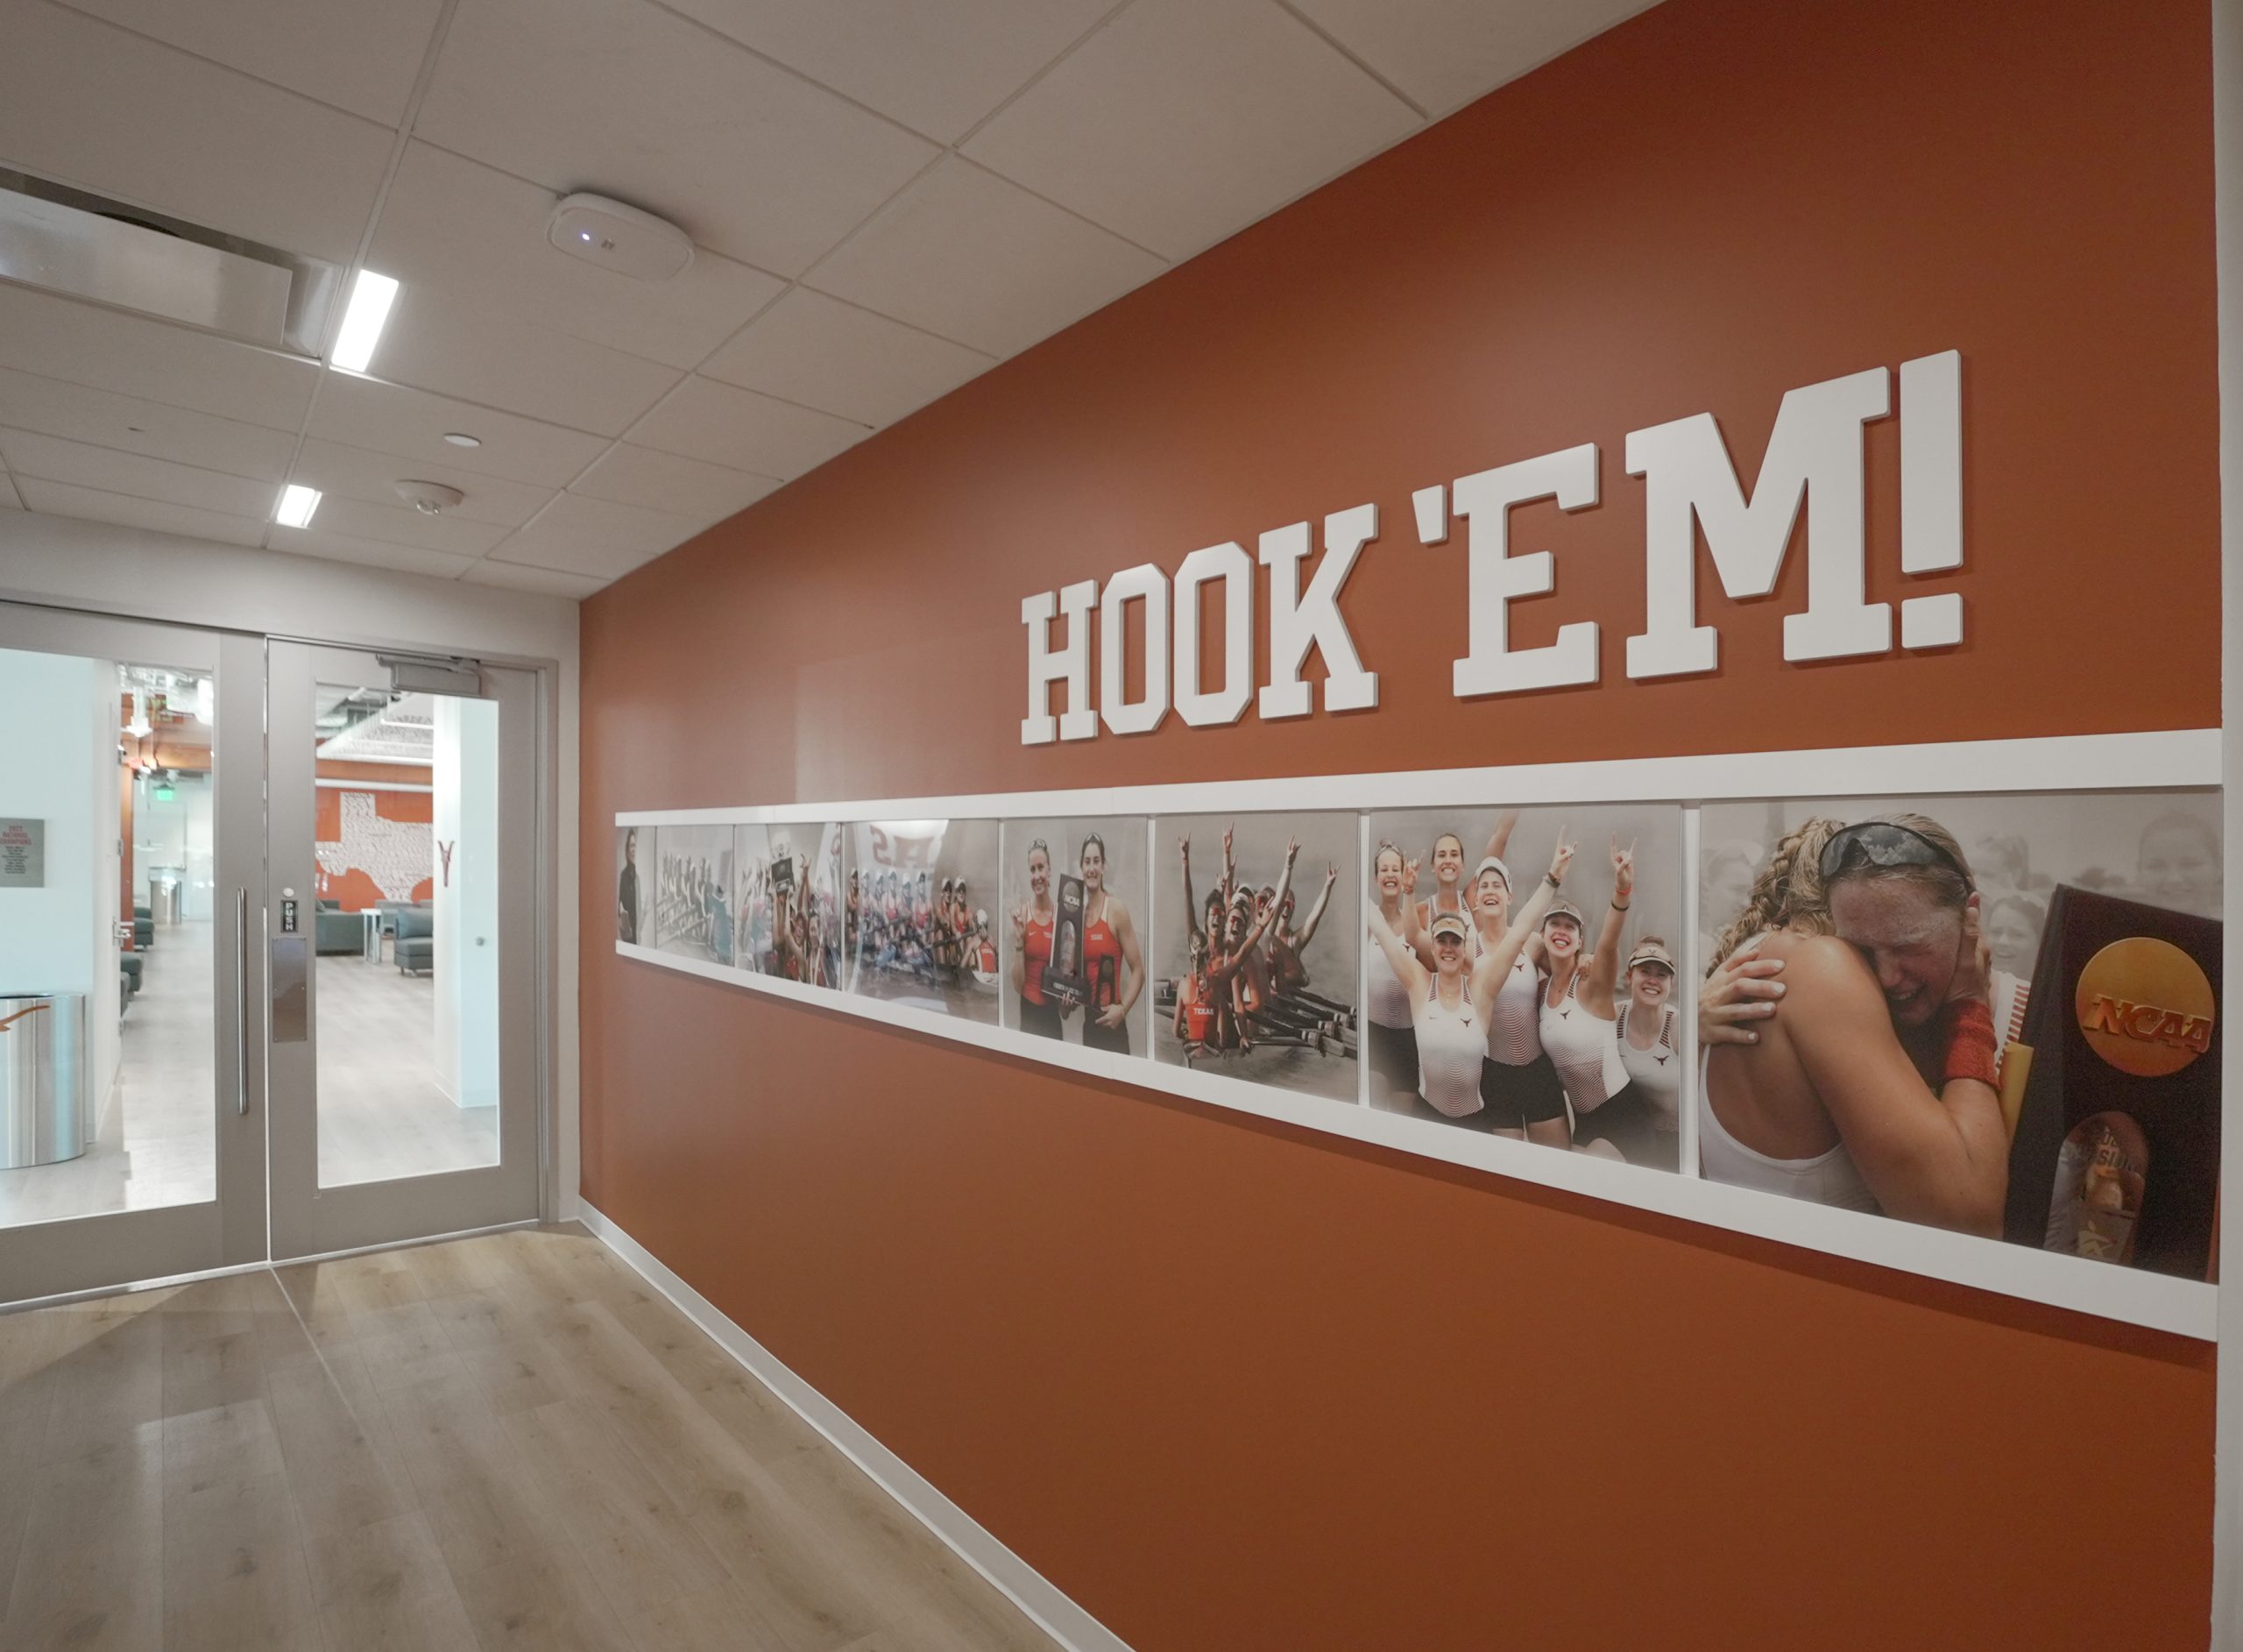
[[0, 1228], [218, 1196], [211, 682], [0, 649]]

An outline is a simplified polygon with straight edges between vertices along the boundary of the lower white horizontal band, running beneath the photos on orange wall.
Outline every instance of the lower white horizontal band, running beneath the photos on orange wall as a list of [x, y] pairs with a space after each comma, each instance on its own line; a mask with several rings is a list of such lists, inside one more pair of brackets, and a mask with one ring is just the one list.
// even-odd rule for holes
[[987, 1021], [935, 1015], [933, 1010], [917, 1010], [888, 999], [868, 999], [834, 992], [832, 988], [805, 988], [801, 981], [787, 981], [785, 976], [747, 974], [722, 963], [682, 958], [628, 940], [617, 940], [615, 949], [639, 963], [698, 974], [707, 981], [722, 981], [749, 992], [814, 1003], [821, 1010], [855, 1015], [864, 1021], [924, 1032], [926, 1037], [951, 1039], [953, 1044], [971, 1044], [1023, 1062], [1063, 1066], [1074, 1073], [1115, 1080], [1117, 1084], [1135, 1084], [1146, 1091], [1184, 1095], [1193, 1102], [1231, 1107], [1240, 1113], [1274, 1118], [1301, 1129], [1377, 1142], [1379, 1147], [1418, 1154], [1420, 1158], [1471, 1165], [1474, 1169], [1489, 1169], [1514, 1181], [1532, 1181], [1588, 1199], [1606, 1199], [1615, 1205], [1655, 1210], [1662, 1217], [1727, 1228], [1729, 1232], [1745, 1232], [1759, 1239], [1776, 1239], [1779, 1243], [1803, 1246], [1833, 1257], [1871, 1261], [1880, 1268], [1920, 1273], [1929, 1279], [1999, 1291], [2025, 1302], [2095, 1313], [2104, 1320], [2147, 1324], [2156, 1331], [2173, 1331], [2203, 1342], [2212, 1342], [2216, 1336], [2218, 1291], [2198, 1279], [2113, 1268], [2030, 1246], [2012, 1246], [2001, 1239], [1974, 1239], [1913, 1221], [1815, 1205], [1803, 1199], [1783, 1199], [1754, 1192], [1752, 1187], [1729, 1187], [1718, 1181], [1678, 1176], [1667, 1169], [1622, 1165], [1590, 1154], [1557, 1154], [1532, 1142], [1453, 1129], [1433, 1120], [1409, 1118], [1406, 1113], [1386, 1113], [1359, 1102], [1332, 1102], [1321, 1095], [1299, 1095], [1270, 1084], [1249, 1084], [1222, 1073], [1166, 1066], [1148, 1055], [1117, 1055], [1061, 1039], [1043, 1039], [1016, 1028], [989, 1026]]

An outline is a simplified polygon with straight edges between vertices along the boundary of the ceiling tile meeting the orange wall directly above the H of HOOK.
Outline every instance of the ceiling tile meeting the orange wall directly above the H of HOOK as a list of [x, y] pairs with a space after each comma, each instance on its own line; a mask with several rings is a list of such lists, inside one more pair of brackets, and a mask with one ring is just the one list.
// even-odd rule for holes
[[1007, 357], [1162, 269], [1142, 247], [951, 157], [807, 285]]

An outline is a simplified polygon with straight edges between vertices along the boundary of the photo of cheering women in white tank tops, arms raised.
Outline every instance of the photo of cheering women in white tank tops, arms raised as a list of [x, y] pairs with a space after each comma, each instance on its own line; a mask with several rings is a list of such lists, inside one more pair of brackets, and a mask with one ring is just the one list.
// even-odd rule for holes
[[1680, 810], [1409, 810], [1370, 837], [1373, 1107], [1678, 1169]]

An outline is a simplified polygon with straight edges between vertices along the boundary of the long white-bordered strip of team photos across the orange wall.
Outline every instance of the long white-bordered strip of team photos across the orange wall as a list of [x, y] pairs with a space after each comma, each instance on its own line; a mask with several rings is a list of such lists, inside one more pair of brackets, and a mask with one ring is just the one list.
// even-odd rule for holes
[[[2052, 745], [2124, 750], [2088, 736], [2001, 743], [2021, 750], [1990, 765], [1873, 752], [1864, 779], [1924, 783], [1817, 799], [1765, 786], [1783, 770], [1761, 759], [1756, 795], [1709, 801], [1507, 801], [1451, 777], [1424, 806], [1440, 777], [1362, 777], [1355, 808], [1294, 779], [1254, 801], [1308, 806], [1204, 808], [1252, 788], [1193, 786], [1086, 795], [1099, 813], [1068, 795], [630, 813], [617, 947], [2209, 1336], [2221, 792], [2187, 738], [2142, 741], [2126, 779], [2162, 783], [1987, 783], [2055, 772]], [[1128, 808], [1169, 797], [1202, 808]]]

